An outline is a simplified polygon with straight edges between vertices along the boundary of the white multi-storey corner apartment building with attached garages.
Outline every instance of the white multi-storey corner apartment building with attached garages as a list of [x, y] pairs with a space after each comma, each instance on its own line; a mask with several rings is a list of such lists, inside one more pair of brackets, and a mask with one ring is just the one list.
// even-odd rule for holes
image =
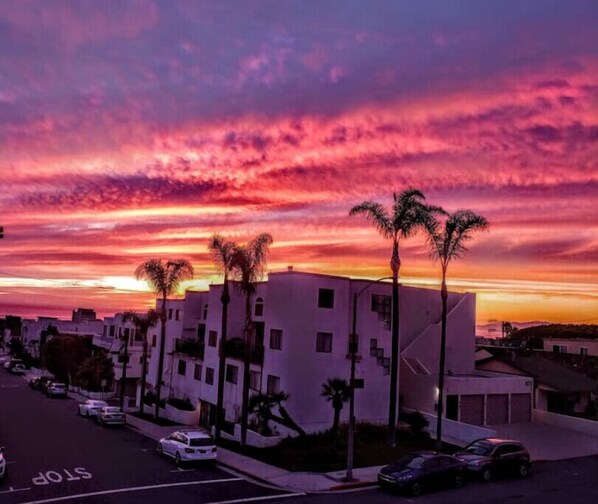
[[[391, 285], [347, 277], [288, 271], [270, 273], [252, 299], [258, 349], [251, 364], [250, 390], [289, 394], [285, 407], [308, 432], [325, 430], [333, 410], [321, 397], [329, 378], [349, 379], [349, 335], [353, 296], [357, 298], [359, 350], [356, 378], [358, 421], [385, 423], [390, 380]], [[218, 383], [222, 285], [208, 292], [187, 292], [167, 302], [167, 337], [163, 397], [189, 398], [200, 408], [200, 422], [214, 418]], [[158, 308], [161, 306], [157, 303]], [[518, 376], [476, 371], [475, 296], [450, 293], [447, 325], [445, 393], [447, 418], [487, 425], [530, 421], [531, 383]], [[231, 285], [224, 407], [237, 421], [241, 410], [245, 300]], [[400, 287], [399, 392], [404, 407], [434, 414], [440, 345], [440, 294]], [[156, 383], [159, 325], [150, 330], [154, 351], [148, 381]], [[176, 340], [179, 340], [178, 342]], [[183, 341], [184, 340], [184, 341]], [[188, 340], [193, 341], [189, 343]], [[183, 343], [181, 343], [183, 341]], [[261, 346], [263, 345], [263, 346]], [[348, 417], [348, 407], [342, 420]]]

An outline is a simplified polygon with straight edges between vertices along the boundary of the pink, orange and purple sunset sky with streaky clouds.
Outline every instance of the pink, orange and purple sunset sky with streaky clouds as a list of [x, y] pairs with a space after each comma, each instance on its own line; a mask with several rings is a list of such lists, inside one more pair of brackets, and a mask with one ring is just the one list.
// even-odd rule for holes
[[583, 0], [3, 0], [0, 317], [147, 307], [150, 257], [205, 288], [214, 233], [382, 277], [349, 209], [413, 186], [490, 222], [449, 268], [479, 323], [598, 323], [597, 26]]

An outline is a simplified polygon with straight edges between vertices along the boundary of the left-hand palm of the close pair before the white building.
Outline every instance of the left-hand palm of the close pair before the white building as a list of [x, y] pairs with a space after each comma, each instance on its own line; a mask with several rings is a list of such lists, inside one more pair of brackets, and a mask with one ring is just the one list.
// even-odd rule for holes
[[218, 396], [216, 399], [216, 430], [214, 437], [216, 441], [220, 440], [222, 423], [224, 422], [224, 377], [226, 366], [226, 338], [228, 333], [228, 303], [230, 302], [230, 292], [228, 288], [228, 276], [231, 272], [231, 261], [237, 244], [220, 235], [214, 235], [208, 243], [208, 250], [212, 253], [212, 261], [224, 275], [224, 285], [222, 286], [222, 319], [220, 330], [220, 345], [218, 347]]

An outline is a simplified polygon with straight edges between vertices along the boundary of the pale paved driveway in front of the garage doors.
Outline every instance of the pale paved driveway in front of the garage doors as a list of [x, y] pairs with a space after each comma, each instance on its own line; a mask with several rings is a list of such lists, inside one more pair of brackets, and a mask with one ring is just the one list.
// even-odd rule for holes
[[498, 437], [521, 441], [532, 460], [563, 460], [598, 454], [598, 437], [538, 423], [492, 426]]

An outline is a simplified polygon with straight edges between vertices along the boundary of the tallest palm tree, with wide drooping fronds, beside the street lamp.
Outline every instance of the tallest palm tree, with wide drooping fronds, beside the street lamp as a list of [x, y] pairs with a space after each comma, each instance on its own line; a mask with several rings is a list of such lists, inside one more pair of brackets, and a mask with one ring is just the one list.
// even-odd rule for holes
[[394, 203], [387, 210], [380, 203], [364, 201], [349, 211], [349, 215], [366, 214], [378, 232], [392, 241], [392, 334], [390, 361], [390, 398], [388, 402], [388, 443], [396, 443], [397, 415], [397, 379], [399, 369], [399, 242], [401, 238], [409, 238], [425, 227], [430, 215], [441, 209], [426, 205], [425, 196], [417, 189], [409, 188], [400, 194], [393, 193]]

